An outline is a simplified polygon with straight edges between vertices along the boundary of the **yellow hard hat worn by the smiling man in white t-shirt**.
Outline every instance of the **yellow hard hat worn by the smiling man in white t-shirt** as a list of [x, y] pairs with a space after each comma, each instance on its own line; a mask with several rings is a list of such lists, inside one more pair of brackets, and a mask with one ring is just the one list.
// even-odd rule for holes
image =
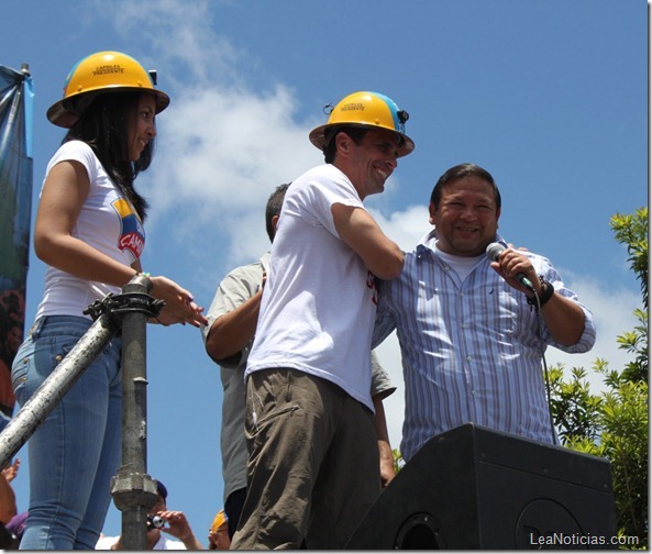
[[400, 137], [398, 156], [406, 156], [415, 149], [415, 143], [405, 134], [408, 112], [399, 110], [396, 102], [378, 92], [353, 92], [340, 100], [329, 115], [325, 125], [310, 132], [310, 142], [319, 149], [328, 145], [329, 130], [335, 126], [353, 125], [362, 128], [380, 128], [395, 132]]

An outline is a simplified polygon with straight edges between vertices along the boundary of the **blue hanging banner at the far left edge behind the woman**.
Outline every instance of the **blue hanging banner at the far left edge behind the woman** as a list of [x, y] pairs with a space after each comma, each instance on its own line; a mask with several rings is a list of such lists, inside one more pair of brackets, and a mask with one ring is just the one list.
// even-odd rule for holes
[[15, 405], [11, 364], [25, 325], [33, 104], [29, 71], [0, 66], [0, 430]]

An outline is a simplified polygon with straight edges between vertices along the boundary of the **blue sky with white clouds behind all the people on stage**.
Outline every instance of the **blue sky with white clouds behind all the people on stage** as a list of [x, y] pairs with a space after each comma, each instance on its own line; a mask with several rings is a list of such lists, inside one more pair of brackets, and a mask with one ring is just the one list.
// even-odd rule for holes
[[[476, 163], [502, 195], [499, 232], [545, 255], [595, 315], [582, 355], [548, 365], [614, 369], [616, 336], [636, 325], [640, 286], [609, 220], [648, 204], [648, 3], [644, 0], [2, 0], [0, 65], [34, 82], [33, 213], [64, 131], [47, 122], [70, 68], [117, 49], [157, 69], [172, 103], [157, 152], [136, 180], [151, 203], [143, 267], [207, 309], [225, 274], [267, 248], [269, 193], [323, 163], [308, 133], [323, 107], [357, 90], [409, 112], [415, 152], [365, 204], [411, 250], [430, 230], [428, 200], [450, 167]], [[34, 215], [32, 217], [34, 218]], [[32, 219], [33, 226], [33, 219]], [[43, 290], [30, 256], [26, 325]], [[404, 387], [394, 336], [378, 348], [397, 385], [385, 409], [400, 443]], [[191, 326], [150, 325], [148, 473], [207, 544], [222, 508], [219, 369]], [[26, 447], [14, 481], [27, 505]], [[104, 533], [120, 533], [111, 507]]]

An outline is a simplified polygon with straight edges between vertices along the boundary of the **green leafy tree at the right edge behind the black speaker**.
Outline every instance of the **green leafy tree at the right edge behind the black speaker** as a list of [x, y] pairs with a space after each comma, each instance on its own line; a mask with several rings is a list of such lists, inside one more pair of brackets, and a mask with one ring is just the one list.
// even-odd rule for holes
[[610, 225], [641, 281], [639, 324], [617, 337], [634, 359], [620, 372], [597, 359], [593, 369], [606, 386], [598, 395], [589, 390], [583, 368], [574, 367], [567, 380], [562, 366], [551, 368], [551, 408], [562, 444], [611, 463], [618, 532], [639, 538], [637, 546], [648, 549], [648, 209], [616, 214]]

